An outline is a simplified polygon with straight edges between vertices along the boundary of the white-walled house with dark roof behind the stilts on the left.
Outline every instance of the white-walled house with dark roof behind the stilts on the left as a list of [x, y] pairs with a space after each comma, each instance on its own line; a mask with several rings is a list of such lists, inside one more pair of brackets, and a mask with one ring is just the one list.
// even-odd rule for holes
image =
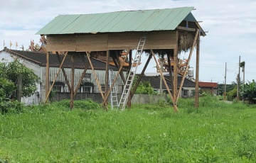
[[[35, 74], [40, 77], [40, 81], [37, 84], [37, 90], [35, 94], [29, 98], [23, 98], [22, 101], [27, 104], [38, 103], [39, 101], [44, 101], [46, 97], [46, 53], [44, 52], [29, 52], [29, 51], [21, 51], [21, 50], [9, 50], [8, 48], [4, 48], [4, 50], [0, 51], [0, 60], [5, 59], [7, 62], [11, 62], [14, 58], [18, 58], [21, 62], [28, 68], [33, 69]], [[61, 60], [63, 60], [63, 55], [60, 55]], [[78, 57], [75, 59], [75, 86], [77, 86], [78, 81], [81, 77], [82, 72], [85, 68], [85, 63]], [[92, 65], [95, 69], [95, 73], [97, 74], [97, 79], [100, 82], [102, 91], [105, 90], [105, 68], [106, 63], [100, 60], [92, 59]], [[58, 58], [52, 54], [49, 56], [49, 64], [50, 64], [50, 84], [53, 83], [55, 78], [55, 74], [57, 74], [60, 64], [58, 62]], [[65, 72], [70, 79], [71, 75], [71, 62], [70, 60], [65, 60], [63, 63], [63, 67], [65, 67]], [[114, 75], [117, 74], [117, 67], [110, 65], [109, 69], [113, 69]], [[125, 72], [124, 72], [125, 75]], [[121, 77], [117, 78], [116, 88], [119, 94], [122, 93], [123, 82]], [[53, 86], [53, 90], [59, 92], [69, 92], [68, 85], [65, 82], [65, 78], [63, 73], [60, 72], [58, 78], [55, 81]], [[79, 91], [80, 93], [99, 93], [99, 88], [96, 84], [95, 77], [93, 77], [92, 69], [89, 67], [85, 74], [84, 79], [82, 80], [82, 84], [80, 84]], [[40, 96], [37, 96], [37, 95]]]

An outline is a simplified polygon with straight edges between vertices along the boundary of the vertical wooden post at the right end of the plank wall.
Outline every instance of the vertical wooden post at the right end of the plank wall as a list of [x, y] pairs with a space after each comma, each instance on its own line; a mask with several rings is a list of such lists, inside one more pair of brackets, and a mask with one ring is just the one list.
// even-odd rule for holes
[[174, 49], [174, 101], [177, 99], [177, 88], [178, 88], [178, 31], [176, 31], [176, 48]]

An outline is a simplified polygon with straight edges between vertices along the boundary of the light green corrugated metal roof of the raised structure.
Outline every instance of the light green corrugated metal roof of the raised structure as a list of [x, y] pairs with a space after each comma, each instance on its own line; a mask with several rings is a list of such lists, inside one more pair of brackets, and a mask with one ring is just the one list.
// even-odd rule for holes
[[[174, 30], [187, 16], [194, 19], [193, 7], [60, 15], [39, 30], [38, 35], [74, 33], [117, 33]], [[192, 15], [192, 16], [191, 16]]]

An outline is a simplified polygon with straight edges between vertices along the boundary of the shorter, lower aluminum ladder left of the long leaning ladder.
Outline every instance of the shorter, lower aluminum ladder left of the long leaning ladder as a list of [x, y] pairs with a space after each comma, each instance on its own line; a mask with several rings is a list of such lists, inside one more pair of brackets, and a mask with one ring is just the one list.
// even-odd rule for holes
[[[114, 72], [113, 69], [109, 70], [110, 74], [110, 86], [114, 82]], [[114, 86], [111, 89], [110, 93], [110, 103], [111, 103], [111, 110], [117, 111], [118, 108], [118, 99], [117, 99], [117, 87], [114, 84]]]

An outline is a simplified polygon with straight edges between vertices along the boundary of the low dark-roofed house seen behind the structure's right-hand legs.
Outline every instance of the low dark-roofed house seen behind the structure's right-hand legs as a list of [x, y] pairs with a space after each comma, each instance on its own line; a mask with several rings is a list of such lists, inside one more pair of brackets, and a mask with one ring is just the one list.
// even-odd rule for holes
[[[171, 81], [169, 80], [169, 76], [164, 76], [164, 77], [166, 79], [166, 84], [168, 85], [169, 89], [171, 89], [172, 84], [171, 84]], [[159, 75], [142, 77], [142, 81], [149, 81], [151, 86], [154, 88], [154, 91], [157, 91], [158, 93], [160, 93], [160, 79], [161, 77]], [[182, 77], [178, 76], [178, 89], [181, 84], [181, 79]], [[164, 82], [162, 83], [162, 90], [163, 92], [167, 93], [167, 89], [166, 89], [166, 86], [164, 85]], [[196, 84], [190, 79], [185, 78], [183, 87], [181, 89], [181, 94], [179, 94], [179, 96], [183, 98], [193, 97], [195, 90], [196, 90]]]

